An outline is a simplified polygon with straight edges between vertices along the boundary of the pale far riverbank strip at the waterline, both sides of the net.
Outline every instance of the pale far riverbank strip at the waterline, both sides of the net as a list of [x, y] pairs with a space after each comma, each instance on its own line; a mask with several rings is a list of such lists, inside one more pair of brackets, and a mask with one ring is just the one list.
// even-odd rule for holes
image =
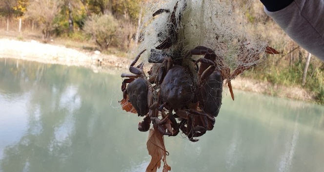
[[[98, 72], [98, 64], [115, 69], [127, 69], [130, 60], [115, 55], [106, 55], [98, 51], [85, 51], [66, 48], [64, 46], [43, 44], [35, 40], [18, 41], [0, 39], [0, 58], [15, 58], [48, 64], [83, 66]], [[287, 87], [238, 77], [232, 82], [234, 89], [268, 94], [271, 96], [315, 102], [315, 96], [302, 87]], [[227, 86], [224, 91], [228, 92]]]

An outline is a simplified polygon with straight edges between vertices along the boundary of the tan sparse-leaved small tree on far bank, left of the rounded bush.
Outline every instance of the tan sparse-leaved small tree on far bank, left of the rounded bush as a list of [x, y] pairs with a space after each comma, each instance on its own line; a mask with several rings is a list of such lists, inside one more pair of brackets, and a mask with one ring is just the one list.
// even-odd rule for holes
[[44, 42], [49, 41], [53, 21], [61, 4], [61, 0], [32, 0], [27, 7], [26, 17], [39, 22]]

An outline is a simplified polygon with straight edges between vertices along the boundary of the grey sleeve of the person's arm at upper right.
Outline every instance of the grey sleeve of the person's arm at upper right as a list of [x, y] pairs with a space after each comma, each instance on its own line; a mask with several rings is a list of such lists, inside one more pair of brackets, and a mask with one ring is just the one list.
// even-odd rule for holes
[[324, 0], [294, 0], [282, 10], [264, 11], [297, 44], [324, 61]]

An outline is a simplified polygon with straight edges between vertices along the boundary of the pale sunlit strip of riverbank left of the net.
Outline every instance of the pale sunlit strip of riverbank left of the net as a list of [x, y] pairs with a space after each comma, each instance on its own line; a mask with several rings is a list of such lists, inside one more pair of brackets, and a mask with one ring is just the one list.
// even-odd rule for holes
[[36, 40], [0, 39], [0, 58], [15, 58], [67, 66], [97, 66], [98, 63], [126, 68], [129, 60], [99, 51], [75, 50], [64, 46], [43, 44]]

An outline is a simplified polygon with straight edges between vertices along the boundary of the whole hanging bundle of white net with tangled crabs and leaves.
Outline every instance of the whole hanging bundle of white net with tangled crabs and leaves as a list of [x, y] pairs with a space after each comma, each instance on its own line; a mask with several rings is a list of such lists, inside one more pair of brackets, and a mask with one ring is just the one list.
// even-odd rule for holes
[[[153, 123], [150, 136], [176, 136], [181, 130], [189, 140], [198, 141], [214, 127], [223, 81], [234, 100], [230, 81], [263, 65], [266, 53], [278, 53], [246, 32], [236, 6], [230, 0], [160, 0], [146, 6], [140, 44], [129, 68], [132, 74], [121, 75], [127, 77], [121, 86], [121, 105], [144, 117], [140, 131], [148, 131]], [[142, 63], [136, 65], [139, 59]], [[150, 138], [147, 144], [152, 143]], [[164, 143], [154, 144], [163, 145], [165, 153]]]

